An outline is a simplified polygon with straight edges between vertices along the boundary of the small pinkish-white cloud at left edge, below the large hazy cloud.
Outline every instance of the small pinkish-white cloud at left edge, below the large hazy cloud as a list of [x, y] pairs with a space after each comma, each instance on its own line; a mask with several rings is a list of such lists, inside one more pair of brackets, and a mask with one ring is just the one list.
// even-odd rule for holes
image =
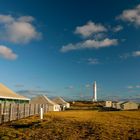
[[0, 45], [0, 57], [9, 60], [15, 60], [17, 55], [10, 48], [4, 45]]

